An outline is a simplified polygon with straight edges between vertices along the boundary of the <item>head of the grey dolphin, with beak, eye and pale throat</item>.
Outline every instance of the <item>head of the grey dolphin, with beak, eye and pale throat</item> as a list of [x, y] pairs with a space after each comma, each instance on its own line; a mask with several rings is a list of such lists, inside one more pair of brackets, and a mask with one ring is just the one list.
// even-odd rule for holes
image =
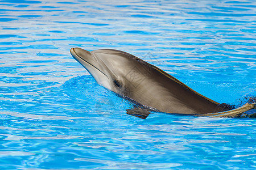
[[[139, 76], [147, 76], [151, 69], [142, 59], [119, 50], [100, 49], [89, 52], [72, 48], [71, 55], [89, 71], [98, 84], [125, 96], [129, 96], [131, 88], [138, 88]], [[133, 87], [127, 84], [133, 84]]]

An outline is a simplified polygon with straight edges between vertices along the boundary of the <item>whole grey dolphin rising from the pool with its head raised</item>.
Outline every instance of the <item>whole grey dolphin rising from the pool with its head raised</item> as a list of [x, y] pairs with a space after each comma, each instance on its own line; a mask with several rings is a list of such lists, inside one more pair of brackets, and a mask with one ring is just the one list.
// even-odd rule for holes
[[138, 107], [127, 114], [146, 118], [150, 111], [211, 117], [239, 117], [256, 109], [255, 101], [234, 109], [192, 90], [158, 67], [114, 49], [92, 52], [72, 48], [71, 55], [98, 84], [133, 101]]

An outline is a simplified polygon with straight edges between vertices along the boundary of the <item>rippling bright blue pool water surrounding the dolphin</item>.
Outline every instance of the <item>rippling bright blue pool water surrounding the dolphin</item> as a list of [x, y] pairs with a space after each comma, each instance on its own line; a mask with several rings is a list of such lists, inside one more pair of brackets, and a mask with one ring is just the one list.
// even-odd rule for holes
[[134, 54], [219, 103], [256, 96], [256, 1], [0, 1], [1, 169], [255, 169], [256, 120], [126, 114], [69, 49]]

